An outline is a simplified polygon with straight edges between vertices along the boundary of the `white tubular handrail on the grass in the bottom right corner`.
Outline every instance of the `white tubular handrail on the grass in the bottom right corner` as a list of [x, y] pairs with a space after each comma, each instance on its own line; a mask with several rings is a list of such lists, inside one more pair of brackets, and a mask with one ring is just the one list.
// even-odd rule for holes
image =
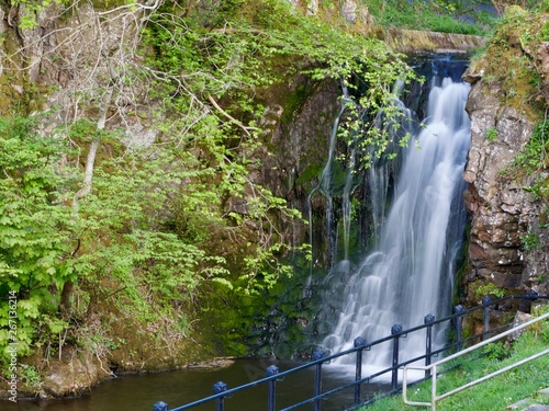
[[[453, 389], [451, 391], [448, 391], [446, 393], [437, 396], [437, 367], [439, 365], [441, 365], [444, 363], [447, 363], [449, 361], [452, 361], [455, 358], [458, 358], [458, 357], [460, 357], [460, 356], [462, 356], [464, 354], [468, 354], [468, 353], [470, 353], [470, 352], [472, 352], [474, 350], [481, 349], [484, 345], [488, 345], [488, 344], [493, 343], [493, 342], [495, 342], [497, 340], [501, 340], [503, 336], [506, 336], [508, 334], [513, 334], [513, 333], [515, 333], [517, 331], [520, 331], [520, 330], [523, 330], [523, 329], [525, 329], [527, 327], [530, 327], [531, 324], [535, 324], [536, 322], [542, 321], [542, 320], [548, 319], [548, 318], [549, 318], [549, 312], [547, 312], [547, 313], [545, 313], [545, 315], [542, 315], [540, 317], [536, 317], [535, 319], [533, 319], [530, 321], [527, 321], [527, 322], [525, 322], [525, 323], [523, 323], [520, 326], [512, 328], [508, 331], [502, 332], [501, 334], [494, 335], [494, 336], [492, 336], [491, 339], [489, 339], [486, 341], [483, 341], [483, 342], [481, 342], [479, 344], [472, 345], [469, 349], [460, 351], [459, 353], [452, 354], [452, 355], [450, 355], [450, 356], [448, 356], [446, 358], [437, 361], [436, 363], [433, 363], [433, 364], [429, 364], [429, 365], [425, 365], [425, 366], [406, 365], [404, 367], [404, 373], [403, 373], [403, 378], [402, 378], [402, 399], [403, 399], [404, 403], [408, 404], [408, 406], [422, 406], [422, 407], [429, 407], [430, 406], [432, 411], [436, 411], [436, 402], [438, 400], [447, 398], [447, 397], [449, 397], [449, 396], [451, 396], [451, 395], [453, 395], [456, 392], [462, 391], [462, 390], [464, 390], [467, 388], [470, 388], [470, 387], [472, 387], [472, 386], [474, 386], [477, 384], [485, 381], [486, 379], [490, 379], [490, 378], [492, 378], [492, 377], [494, 377], [496, 375], [500, 375], [500, 374], [505, 373], [505, 372], [507, 372], [509, 369], [518, 367], [519, 365], [523, 365], [523, 364], [528, 363], [528, 362], [530, 362], [533, 359], [536, 359], [536, 358], [538, 358], [540, 356], [549, 354], [549, 349], [548, 350], [544, 350], [544, 351], [541, 351], [541, 352], [539, 352], [537, 354], [534, 354], [534, 355], [531, 355], [531, 356], [529, 356], [527, 358], [520, 359], [519, 362], [517, 362], [515, 364], [512, 364], [512, 365], [509, 365], [509, 366], [507, 366], [505, 368], [498, 369], [498, 370], [496, 370], [494, 373], [485, 375], [482, 378], [475, 379], [474, 381], [470, 381], [470, 383], [468, 383], [468, 384], [466, 384], [466, 385], [463, 385], [461, 387], [458, 387], [458, 388], [456, 388], [456, 389]], [[407, 370], [408, 369], [421, 369], [421, 370], [429, 370], [429, 369], [432, 369], [430, 402], [417, 402], [417, 401], [410, 401], [407, 399]]]

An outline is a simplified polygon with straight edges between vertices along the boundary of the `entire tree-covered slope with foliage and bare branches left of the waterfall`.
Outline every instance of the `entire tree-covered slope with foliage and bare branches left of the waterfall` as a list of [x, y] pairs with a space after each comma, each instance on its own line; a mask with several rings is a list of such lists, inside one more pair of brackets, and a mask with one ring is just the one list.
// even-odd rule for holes
[[41, 366], [67, 345], [122, 369], [184, 362], [202, 302], [291, 275], [283, 227], [300, 216], [250, 176], [266, 155], [256, 93], [360, 78], [377, 110], [411, 76], [382, 42], [285, 1], [2, 7], [2, 84], [25, 96], [0, 121], [3, 365], [10, 343]]

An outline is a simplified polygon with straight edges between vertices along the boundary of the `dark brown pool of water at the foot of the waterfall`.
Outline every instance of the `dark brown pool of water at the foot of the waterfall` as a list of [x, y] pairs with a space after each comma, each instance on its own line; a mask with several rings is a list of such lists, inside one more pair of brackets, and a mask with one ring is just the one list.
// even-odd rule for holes
[[[248, 384], [266, 375], [265, 369], [276, 364], [280, 372], [299, 364], [290, 362], [259, 362], [255, 359], [237, 359], [227, 368], [182, 369], [178, 372], [127, 375], [101, 383], [90, 395], [78, 399], [64, 400], [19, 400], [18, 403], [0, 401], [2, 411], [150, 411], [157, 401], [165, 401], [169, 409], [183, 406], [212, 395], [213, 385], [223, 381], [227, 388]], [[324, 365], [322, 368], [323, 391], [354, 380], [354, 369], [343, 370], [340, 367]], [[277, 410], [305, 400], [313, 396], [314, 367], [287, 376], [277, 383]], [[365, 398], [369, 392], [383, 390], [380, 385], [363, 386]], [[345, 410], [352, 406], [354, 391], [347, 389], [322, 401], [323, 411]], [[306, 404], [300, 410], [312, 410]], [[198, 411], [214, 411], [215, 402], [192, 408]], [[238, 391], [233, 398], [225, 400], [226, 411], [267, 410], [267, 385]]]

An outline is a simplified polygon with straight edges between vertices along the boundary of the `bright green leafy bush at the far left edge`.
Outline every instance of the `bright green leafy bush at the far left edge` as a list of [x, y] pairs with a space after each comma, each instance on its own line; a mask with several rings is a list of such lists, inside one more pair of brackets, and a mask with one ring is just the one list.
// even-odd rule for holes
[[[55, 138], [33, 132], [33, 118], [0, 119], [0, 290], [18, 295], [18, 349], [31, 351], [37, 320], [45, 326], [55, 313], [55, 294], [76, 278], [71, 256], [75, 242], [67, 222], [70, 209], [63, 206], [69, 180], [56, 171], [65, 150]], [[8, 326], [8, 301], [0, 301], [0, 324]], [[0, 332], [0, 350], [8, 343]]]

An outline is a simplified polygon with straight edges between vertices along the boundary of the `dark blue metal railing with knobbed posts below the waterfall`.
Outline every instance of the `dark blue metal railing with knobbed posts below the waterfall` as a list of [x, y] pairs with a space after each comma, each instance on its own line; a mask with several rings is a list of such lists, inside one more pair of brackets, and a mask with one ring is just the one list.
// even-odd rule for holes
[[[457, 306], [453, 310], [453, 315], [448, 316], [446, 318], [436, 320], [433, 315], [427, 315], [424, 318], [424, 324], [414, 327], [407, 330], [403, 330], [402, 326], [396, 323], [391, 328], [391, 334], [373, 341], [373, 342], [367, 342], [367, 340], [363, 336], [358, 336], [355, 339], [354, 342], [354, 347], [335, 353], [332, 355], [326, 355], [325, 352], [321, 350], [316, 350], [312, 353], [312, 361], [310, 363], [302, 364], [298, 367], [280, 372], [279, 368], [274, 365], [271, 365], [267, 367], [266, 369], [266, 377], [261, 378], [256, 381], [251, 381], [249, 384], [245, 384], [232, 389], [227, 388], [227, 385], [223, 381], [217, 381], [213, 385], [213, 395], [200, 400], [197, 400], [194, 402], [190, 402], [188, 404], [172, 408], [168, 410], [168, 404], [164, 401], [158, 401], [153, 406], [153, 411], [183, 411], [183, 410], [190, 410], [192, 408], [195, 408], [198, 406], [212, 402], [215, 404], [215, 410], [216, 411], [224, 411], [224, 402], [226, 399], [231, 399], [234, 393], [244, 391], [247, 389], [251, 389], [261, 385], [267, 385], [268, 387], [268, 396], [267, 396], [267, 410], [268, 411], [276, 411], [276, 400], [277, 400], [277, 387], [278, 383], [281, 383], [284, 380], [287, 376], [303, 372], [307, 368], [313, 368], [314, 369], [314, 395], [313, 397], [310, 397], [303, 401], [300, 401], [298, 403], [294, 403], [290, 407], [280, 409], [278, 411], [290, 411], [290, 410], [295, 410], [300, 407], [306, 406], [306, 404], [313, 404], [313, 410], [314, 411], [321, 411], [322, 407], [322, 400], [327, 399], [329, 396], [343, 391], [343, 390], [348, 390], [352, 389], [354, 390], [354, 401], [349, 410], [356, 409], [359, 406], [368, 404], [373, 402], [376, 399], [396, 393], [400, 391], [401, 387], [399, 386], [399, 369], [402, 369], [408, 364], [416, 363], [418, 361], [425, 361], [425, 365], [429, 366], [432, 364], [433, 357], [438, 356], [441, 353], [452, 353], [452, 352], [459, 352], [462, 350], [464, 345], [470, 345], [472, 341], [475, 340], [485, 340], [489, 335], [497, 333], [504, 328], [507, 328], [509, 324], [501, 326], [497, 328], [490, 328], [490, 312], [491, 310], [495, 307], [497, 308], [498, 305], [502, 305], [504, 302], [508, 304], [511, 300], [528, 300], [528, 301], [535, 301], [537, 299], [549, 299], [549, 296], [539, 296], [537, 293], [529, 293], [524, 296], [508, 296], [504, 298], [500, 298], [496, 300], [491, 300], [489, 297], [484, 297], [482, 299], [482, 305], [479, 307], [474, 307], [471, 309], [464, 309], [462, 306]], [[479, 334], [471, 335], [467, 339], [463, 339], [463, 320], [468, 318], [468, 316], [474, 315], [477, 311], [483, 311], [483, 332]], [[451, 343], [448, 343], [437, 350], [433, 350], [433, 330], [435, 327], [439, 327], [441, 330], [444, 329], [450, 329], [453, 330], [455, 336], [450, 340], [452, 340]], [[415, 332], [422, 332], [425, 331], [425, 354], [421, 355], [418, 357], [410, 358], [406, 361], [400, 361], [400, 339], [401, 338], [406, 338], [412, 333]], [[363, 352], [365, 351], [370, 351], [374, 349], [376, 346], [379, 346], [383, 343], [392, 343], [392, 361], [391, 361], [391, 366], [379, 370], [374, 374], [368, 374], [365, 375], [365, 364], [362, 364], [362, 357], [363, 357]], [[330, 361], [338, 358], [338, 357], [344, 357], [348, 355], [355, 355], [355, 378], [349, 380], [346, 384], [343, 384], [336, 388], [333, 388], [327, 391], [322, 390], [322, 369], [323, 369], [323, 364], [329, 364]], [[425, 369], [425, 378], [430, 377], [430, 369]], [[390, 373], [391, 376], [391, 384], [390, 384], [390, 389], [386, 390], [386, 392], [383, 396], [379, 396], [373, 399], [365, 400], [362, 399], [362, 386], [370, 383], [374, 378], [378, 378], [382, 375], [386, 375]]]

